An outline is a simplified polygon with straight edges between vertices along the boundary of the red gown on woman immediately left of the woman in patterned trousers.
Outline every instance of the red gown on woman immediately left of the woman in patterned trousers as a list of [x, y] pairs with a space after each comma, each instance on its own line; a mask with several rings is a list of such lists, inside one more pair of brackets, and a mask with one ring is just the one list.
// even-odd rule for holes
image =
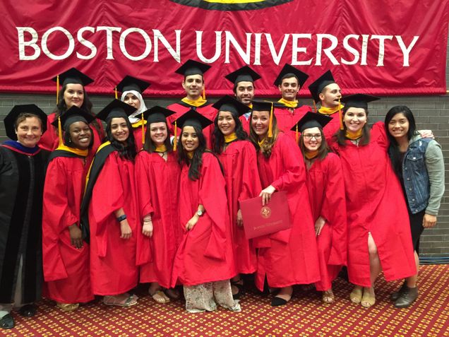
[[[140, 151], [136, 157], [136, 182], [140, 224], [151, 214], [152, 237], [140, 234], [138, 265], [140, 283], [157, 282], [170, 288], [176, 249], [181, 242], [177, 189], [181, 169], [176, 154], [169, 152], [167, 162], [159, 153]], [[138, 226], [140, 233], [141, 225]]]

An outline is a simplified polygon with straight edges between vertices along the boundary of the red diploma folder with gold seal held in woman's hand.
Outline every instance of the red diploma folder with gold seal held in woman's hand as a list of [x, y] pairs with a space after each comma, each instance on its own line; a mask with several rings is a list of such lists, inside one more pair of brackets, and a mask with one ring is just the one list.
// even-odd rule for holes
[[262, 206], [262, 197], [240, 202], [247, 239], [271, 234], [290, 227], [287, 192], [275, 192], [268, 205]]

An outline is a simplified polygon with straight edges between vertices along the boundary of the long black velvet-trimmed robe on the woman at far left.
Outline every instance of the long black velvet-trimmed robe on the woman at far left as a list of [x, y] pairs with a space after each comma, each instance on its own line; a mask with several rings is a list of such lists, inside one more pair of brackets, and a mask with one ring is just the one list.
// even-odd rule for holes
[[42, 194], [48, 155], [45, 150], [28, 155], [0, 146], [0, 303], [14, 301], [20, 256], [22, 303], [40, 300]]

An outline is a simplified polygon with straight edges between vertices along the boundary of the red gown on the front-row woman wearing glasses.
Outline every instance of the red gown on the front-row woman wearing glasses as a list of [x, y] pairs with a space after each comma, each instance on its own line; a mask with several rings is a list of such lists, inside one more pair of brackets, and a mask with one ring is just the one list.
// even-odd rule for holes
[[313, 221], [320, 215], [326, 220], [316, 237], [321, 280], [315, 283], [316, 290], [325, 291], [347, 264], [345, 182], [340, 158], [335, 153], [313, 161], [307, 172], [307, 189]]

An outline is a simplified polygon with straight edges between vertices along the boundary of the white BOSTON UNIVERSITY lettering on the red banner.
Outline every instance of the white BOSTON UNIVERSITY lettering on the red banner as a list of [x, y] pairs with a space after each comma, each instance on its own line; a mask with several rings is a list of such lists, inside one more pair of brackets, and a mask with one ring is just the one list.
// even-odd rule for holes
[[[181, 62], [181, 30], [174, 30], [175, 41], [172, 41], [167, 39], [167, 37], [157, 29], [153, 29], [151, 32], [146, 32], [140, 28], [126, 28], [126, 30], [122, 32], [122, 28], [120, 27], [98, 26], [95, 28], [87, 26], [80, 28], [76, 32], [76, 40], [78, 40], [80, 45], [90, 49], [89, 54], [81, 54], [80, 52], [75, 51], [76, 43], [73, 35], [63, 27], [49, 28], [43, 33], [41, 39], [37, 31], [32, 27], [16, 27], [16, 29], [18, 32], [18, 56], [21, 61], [32, 61], [42, 57], [42, 54], [49, 57], [49, 59], [66, 59], [70, 57], [73, 52], [76, 52], [76, 57], [78, 57], [78, 59], [93, 59], [98, 54], [97, 46], [88, 40], [88, 37], [92, 37], [92, 35], [95, 35], [97, 32], [105, 31], [107, 49], [106, 59], [114, 59], [113, 33], [117, 32], [120, 33], [119, 51], [124, 57], [131, 61], [146, 59], [150, 57], [152, 52], [152, 60], [154, 62], [159, 62], [160, 53], [162, 52], [159, 47], [160, 44], [162, 44], [165, 48], [163, 52], [168, 52], [176, 62]], [[58, 42], [59, 45], [52, 45], [52, 42], [49, 41], [49, 36], [53, 33], [57, 34], [58, 32], [62, 32], [66, 36], [68, 40], [67, 45], [61, 46], [61, 42]], [[142, 37], [140, 42], [134, 42], [136, 39], [126, 40], [126, 37], [131, 33], [140, 35]], [[291, 50], [292, 54], [288, 57], [291, 57], [291, 64], [294, 66], [311, 64], [322, 66], [323, 63], [326, 62], [330, 62], [336, 66], [340, 64], [368, 66], [367, 59], [368, 53], [370, 53], [370, 55], [375, 55], [377, 58], [376, 66], [381, 67], [384, 66], [385, 58], [388, 58], [388, 48], [395, 48], [395, 50], [397, 50], [399, 47], [403, 57], [402, 66], [410, 66], [412, 49], [419, 40], [419, 36], [413, 36], [409, 45], [406, 45], [401, 35], [349, 34], [342, 37], [342, 39], [339, 39], [335, 35], [325, 33], [286, 33], [282, 35], [282, 41], [273, 41], [273, 37], [270, 33], [242, 32], [239, 33], [239, 36], [235, 35], [235, 32], [233, 34], [230, 31], [215, 31], [214, 33], [215, 52], [212, 55], [209, 54], [208, 56], [205, 56], [203, 54], [203, 38], [208, 40], [208, 52], [213, 52], [214, 49], [211, 47], [212, 41], [210, 41], [210, 35], [203, 35], [202, 30], [195, 31], [196, 56], [200, 61], [208, 64], [214, 63], [220, 59], [224, 49], [223, 56], [225, 64], [229, 64], [230, 60], [235, 58], [240, 59], [244, 64], [262, 65], [261, 55], [268, 54], [271, 59], [273, 59], [273, 62], [276, 65], [279, 65], [281, 59], [285, 57], [287, 46], [290, 46], [291, 48], [289, 48], [289, 50]], [[86, 37], [86, 35], [88, 36]], [[224, 39], [222, 39], [223, 35]], [[408, 39], [409, 38], [407, 37], [407, 40]], [[129, 42], [130, 40], [133, 42]], [[244, 40], [246, 40], [246, 42], [242, 42]], [[60, 39], [58, 41], [60, 41]], [[370, 43], [370, 41], [372, 42]], [[138, 43], [138, 45], [136, 45], [136, 43]], [[192, 42], [188, 43], [191, 44]], [[359, 47], [357, 47], [357, 45], [359, 45]], [[145, 48], [142, 46], [145, 46]], [[60, 49], [64, 49], [63, 54], [54, 54], [56, 50]], [[133, 50], [142, 49], [143, 52], [140, 54], [133, 52]], [[335, 54], [340, 56], [342, 52], [347, 52], [349, 57], [345, 55], [347, 58], [340, 57], [340, 59], [337, 59]], [[397, 54], [397, 52], [394, 54]], [[267, 61], [265, 60], [265, 62]]]

